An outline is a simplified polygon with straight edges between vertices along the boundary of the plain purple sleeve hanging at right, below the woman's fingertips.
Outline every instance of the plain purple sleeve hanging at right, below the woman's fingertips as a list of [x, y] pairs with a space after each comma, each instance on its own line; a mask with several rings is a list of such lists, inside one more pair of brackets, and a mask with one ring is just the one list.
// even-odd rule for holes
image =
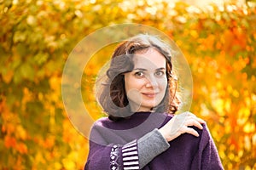
[[204, 129], [201, 133], [199, 149], [194, 157], [194, 160], [192, 161], [192, 169], [224, 169], [218, 156], [218, 150], [213, 142], [211, 133], [209, 132], [206, 124], [204, 124]]

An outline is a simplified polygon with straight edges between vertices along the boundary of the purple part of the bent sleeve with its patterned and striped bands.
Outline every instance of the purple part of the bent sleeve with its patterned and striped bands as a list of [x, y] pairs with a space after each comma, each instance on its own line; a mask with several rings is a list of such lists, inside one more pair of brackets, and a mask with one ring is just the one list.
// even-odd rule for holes
[[102, 131], [101, 126], [92, 127], [90, 133], [90, 151], [84, 170], [128, 170], [139, 169], [137, 140], [126, 144], [108, 142], [113, 133]]

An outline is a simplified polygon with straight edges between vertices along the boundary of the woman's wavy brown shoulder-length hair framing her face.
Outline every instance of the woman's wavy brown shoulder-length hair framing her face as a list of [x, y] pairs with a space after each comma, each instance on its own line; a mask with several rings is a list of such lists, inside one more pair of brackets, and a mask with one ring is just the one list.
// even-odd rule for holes
[[[125, 93], [125, 72], [133, 70], [133, 56], [136, 52], [154, 48], [166, 58], [166, 94], [160, 105], [152, 110], [156, 112], [175, 113], [180, 104], [177, 97], [177, 79], [172, 75], [171, 48], [158, 37], [150, 35], [137, 35], [129, 40], [121, 42], [114, 50], [107, 78], [100, 82], [102, 87], [96, 93], [96, 99], [102, 105], [108, 116], [114, 120], [119, 117], [131, 116], [129, 101]], [[102, 81], [100, 79], [100, 81]]]

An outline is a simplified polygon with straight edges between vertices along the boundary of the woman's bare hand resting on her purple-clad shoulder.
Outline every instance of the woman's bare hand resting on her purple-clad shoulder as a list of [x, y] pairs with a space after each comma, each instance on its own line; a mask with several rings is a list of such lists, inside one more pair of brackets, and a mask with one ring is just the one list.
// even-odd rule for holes
[[159, 129], [159, 132], [168, 142], [176, 139], [179, 135], [183, 133], [190, 133], [198, 137], [199, 134], [195, 131], [195, 129], [189, 126], [195, 126], [202, 129], [202, 123], [205, 122], [201, 118], [198, 118], [189, 111], [186, 111], [179, 115], [173, 116], [173, 118], [169, 122], [167, 122], [164, 127], [161, 127]]

